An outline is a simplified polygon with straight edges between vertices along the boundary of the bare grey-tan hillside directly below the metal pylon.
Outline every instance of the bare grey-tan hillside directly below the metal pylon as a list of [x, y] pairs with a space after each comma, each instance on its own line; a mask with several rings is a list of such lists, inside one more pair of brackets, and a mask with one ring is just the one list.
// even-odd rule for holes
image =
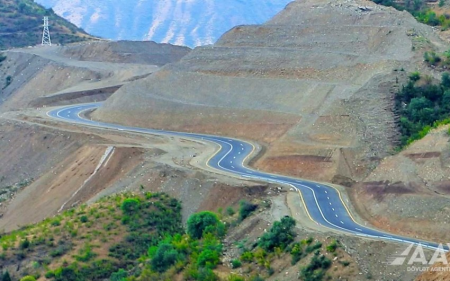
[[64, 95], [76, 101], [89, 101], [78, 99], [89, 95], [103, 100], [189, 51], [154, 42], [85, 42], [7, 51], [0, 63], [0, 110], [61, 102]]

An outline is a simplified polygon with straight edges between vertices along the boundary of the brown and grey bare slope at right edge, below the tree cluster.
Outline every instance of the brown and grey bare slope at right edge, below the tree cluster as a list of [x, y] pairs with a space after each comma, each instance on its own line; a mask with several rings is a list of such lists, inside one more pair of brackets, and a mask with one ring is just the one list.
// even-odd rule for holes
[[449, 236], [450, 144], [447, 127], [386, 157], [351, 193], [360, 213], [389, 231], [446, 242]]

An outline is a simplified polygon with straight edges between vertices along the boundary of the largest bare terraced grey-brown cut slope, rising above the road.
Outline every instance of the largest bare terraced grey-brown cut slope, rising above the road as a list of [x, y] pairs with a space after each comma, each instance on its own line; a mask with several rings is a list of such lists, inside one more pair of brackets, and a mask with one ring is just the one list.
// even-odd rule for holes
[[391, 92], [406, 75], [394, 70], [421, 59], [411, 30], [441, 44], [406, 12], [296, 1], [264, 25], [236, 27], [123, 87], [94, 116], [253, 139], [267, 148], [257, 167], [359, 180], [396, 139]]

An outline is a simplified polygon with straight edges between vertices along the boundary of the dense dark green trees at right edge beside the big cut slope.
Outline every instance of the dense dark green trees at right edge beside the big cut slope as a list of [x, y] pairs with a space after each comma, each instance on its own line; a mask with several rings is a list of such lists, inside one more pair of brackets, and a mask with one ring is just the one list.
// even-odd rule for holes
[[[418, 81], [422, 81], [419, 83]], [[422, 78], [414, 72], [396, 95], [396, 110], [400, 115], [401, 144], [424, 137], [428, 131], [449, 122], [450, 74], [442, 74], [439, 84], [431, 77]]]

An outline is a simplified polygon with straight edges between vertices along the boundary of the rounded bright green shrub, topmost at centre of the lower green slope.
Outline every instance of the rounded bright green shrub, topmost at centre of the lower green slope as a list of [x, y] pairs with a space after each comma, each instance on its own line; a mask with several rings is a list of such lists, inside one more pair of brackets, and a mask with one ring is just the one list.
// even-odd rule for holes
[[222, 236], [225, 226], [212, 212], [199, 212], [189, 217], [187, 221], [187, 233], [195, 239], [200, 239], [206, 233]]

